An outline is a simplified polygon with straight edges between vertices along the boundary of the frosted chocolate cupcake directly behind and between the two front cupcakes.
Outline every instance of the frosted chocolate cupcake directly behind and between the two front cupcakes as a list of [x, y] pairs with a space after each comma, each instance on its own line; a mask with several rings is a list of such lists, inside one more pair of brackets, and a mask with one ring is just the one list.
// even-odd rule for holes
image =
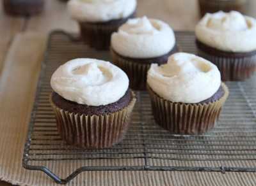
[[164, 64], [175, 52], [174, 32], [161, 20], [130, 19], [111, 36], [113, 62], [127, 73], [134, 90], [146, 89], [150, 64]]

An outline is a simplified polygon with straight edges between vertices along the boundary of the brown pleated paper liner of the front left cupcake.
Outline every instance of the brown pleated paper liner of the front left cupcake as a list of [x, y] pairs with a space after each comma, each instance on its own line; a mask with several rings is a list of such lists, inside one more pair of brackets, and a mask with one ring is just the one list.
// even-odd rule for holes
[[135, 94], [132, 92], [131, 102], [122, 110], [90, 116], [58, 108], [51, 97], [50, 102], [61, 138], [69, 145], [81, 148], [108, 148], [122, 141], [136, 102]]

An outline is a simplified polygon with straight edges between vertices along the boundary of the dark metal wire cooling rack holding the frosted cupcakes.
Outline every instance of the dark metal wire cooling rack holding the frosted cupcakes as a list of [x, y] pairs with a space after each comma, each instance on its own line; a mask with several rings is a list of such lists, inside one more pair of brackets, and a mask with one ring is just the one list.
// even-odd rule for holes
[[[184, 52], [196, 53], [193, 32], [176, 32], [176, 36]], [[83, 171], [256, 172], [255, 77], [227, 82], [230, 96], [218, 125], [207, 134], [175, 135], [158, 127], [147, 92], [136, 92], [131, 127], [122, 143], [104, 150], [66, 145], [58, 135], [49, 104], [49, 82], [60, 64], [77, 57], [111, 61], [108, 52], [92, 50], [71, 34], [50, 34], [24, 148], [24, 168], [44, 171], [57, 183], [70, 182]]]

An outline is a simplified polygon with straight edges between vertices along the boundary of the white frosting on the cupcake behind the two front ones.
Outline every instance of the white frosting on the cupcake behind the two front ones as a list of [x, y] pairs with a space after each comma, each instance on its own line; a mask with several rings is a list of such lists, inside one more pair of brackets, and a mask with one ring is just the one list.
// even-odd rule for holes
[[132, 18], [111, 36], [111, 47], [124, 57], [152, 58], [168, 54], [175, 45], [170, 26], [147, 17]]

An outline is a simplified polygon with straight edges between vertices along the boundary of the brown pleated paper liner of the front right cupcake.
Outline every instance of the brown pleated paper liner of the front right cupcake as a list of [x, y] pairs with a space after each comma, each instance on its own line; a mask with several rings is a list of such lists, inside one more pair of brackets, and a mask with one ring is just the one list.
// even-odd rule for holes
[[156, 123], [173, 134], [202, 134], [212, 129], [221, 107], [228, 97], [228, 88], [221, 84], [225, 94], [212, 103], [173, 103], [159, 97], [149, 86], [148, 92]]

